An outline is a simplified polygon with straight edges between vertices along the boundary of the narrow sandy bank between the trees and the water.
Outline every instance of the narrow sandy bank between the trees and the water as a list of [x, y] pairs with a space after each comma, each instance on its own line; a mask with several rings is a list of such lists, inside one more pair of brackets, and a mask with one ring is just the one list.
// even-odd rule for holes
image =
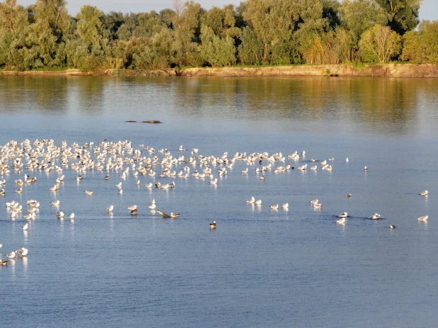
[[80, 69], [62, 71], [3, 71], [1, 76], [174, 76], [174, 77], [438, 77], [438, 67], [431, 64], [349, 64], [299, 65], [277, 67], [198, 67], [134, 71], [106, 69], [101, 72], [82, 72]]

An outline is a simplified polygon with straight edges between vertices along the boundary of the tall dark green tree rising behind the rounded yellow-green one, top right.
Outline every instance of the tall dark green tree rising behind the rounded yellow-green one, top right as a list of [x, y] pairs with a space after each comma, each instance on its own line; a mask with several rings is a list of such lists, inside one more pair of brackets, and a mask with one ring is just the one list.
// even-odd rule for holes
[[400, 35], [413, 30], [420, 22], [418, 13], [422, 0], [376, 0], [386, 11], [388, 25]]

